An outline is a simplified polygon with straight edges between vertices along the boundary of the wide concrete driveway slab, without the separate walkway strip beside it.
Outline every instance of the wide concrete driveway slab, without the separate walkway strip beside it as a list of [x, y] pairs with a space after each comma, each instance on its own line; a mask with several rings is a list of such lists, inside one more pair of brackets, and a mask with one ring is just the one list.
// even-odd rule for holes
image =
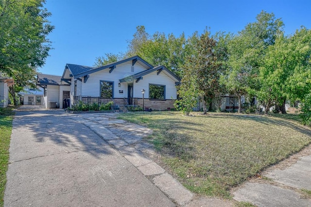
[[5, 207], [176, 206], [75, 115], [22, 110], [13, 121]]

